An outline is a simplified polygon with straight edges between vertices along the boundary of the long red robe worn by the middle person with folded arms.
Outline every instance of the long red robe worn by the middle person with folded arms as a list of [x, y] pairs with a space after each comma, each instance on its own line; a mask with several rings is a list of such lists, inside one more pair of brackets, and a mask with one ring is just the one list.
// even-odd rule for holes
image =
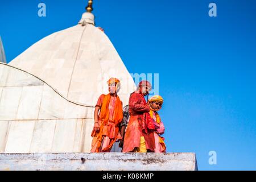
[[134, 152], [135, 147], [141, 146], [141, 137], [144, 137], [148, 152], [155, 150], [155, 138], [152, 131], [145, 134], [142, 131], [143, 113], [148, 113], [150, 107], [143, 94], [138, 91], [131, 94], [129, 99], [129, 114], [130, 119], [126, 128], [125, 138], [123, 140], [122, 152]]

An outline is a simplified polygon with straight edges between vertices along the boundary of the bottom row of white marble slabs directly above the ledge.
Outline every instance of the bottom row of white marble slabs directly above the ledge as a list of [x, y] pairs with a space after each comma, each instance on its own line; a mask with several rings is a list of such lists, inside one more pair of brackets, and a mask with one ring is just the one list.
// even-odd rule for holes
[[0, 121], [0, 153], [90, 152], [93, 119]]

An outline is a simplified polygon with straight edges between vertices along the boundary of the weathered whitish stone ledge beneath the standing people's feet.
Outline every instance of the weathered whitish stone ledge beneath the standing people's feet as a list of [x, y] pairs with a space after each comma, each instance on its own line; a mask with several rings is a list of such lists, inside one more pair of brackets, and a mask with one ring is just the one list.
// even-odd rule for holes
[[194, 153], [0, 154], [0, 170], [194, 171]]

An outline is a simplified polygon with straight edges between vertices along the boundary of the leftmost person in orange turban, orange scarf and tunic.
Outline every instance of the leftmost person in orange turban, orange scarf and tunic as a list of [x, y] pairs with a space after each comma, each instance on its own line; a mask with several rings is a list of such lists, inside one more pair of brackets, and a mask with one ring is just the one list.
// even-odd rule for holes
[[110, 78], [108, 85], [109, 94], [102, 94], [95, 106], [90, 152], [110, 152], [113, 144], [122, 139], [119, 125], [123, 118], [123, 110], [122, 102], [117, 95], [120, 81], [117, 78]]

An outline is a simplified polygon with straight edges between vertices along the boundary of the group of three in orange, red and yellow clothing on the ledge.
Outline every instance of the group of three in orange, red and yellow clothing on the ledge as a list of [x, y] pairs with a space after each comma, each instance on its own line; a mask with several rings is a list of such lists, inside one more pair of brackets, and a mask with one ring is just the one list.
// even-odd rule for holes
[[152, 88], [150, 82], [139, 82], [124, 108], [117, 95], [120, 81], [110, 78], [108, 85], [109, 94], [98, 98], [94, 110], [91, 152], [110, 152], [117, 141], [122, 152], [166, 152], [164, 138], [160, 136], [164, 125], [157, 113], [163, 98], [153, 96], [148, 102], [144, 98]]

